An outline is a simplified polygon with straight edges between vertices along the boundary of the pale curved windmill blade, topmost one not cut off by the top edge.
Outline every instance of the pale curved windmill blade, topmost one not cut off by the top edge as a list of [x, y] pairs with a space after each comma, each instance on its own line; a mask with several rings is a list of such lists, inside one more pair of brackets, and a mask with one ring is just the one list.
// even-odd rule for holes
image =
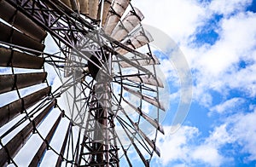
[[113, 33], [111, 37], [116, 39], [117, 41], [121, 41], [124, 37], [128, 35], [139, 23], [144, 19], [142, 12], [133, 8], [125, 18], [119, 22], [119, 24], [113, 29]]

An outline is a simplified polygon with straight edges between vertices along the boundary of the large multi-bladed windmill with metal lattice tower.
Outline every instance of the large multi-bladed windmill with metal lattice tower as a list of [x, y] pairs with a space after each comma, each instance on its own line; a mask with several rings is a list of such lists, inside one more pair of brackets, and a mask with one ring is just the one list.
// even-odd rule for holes
[[164, 83], [130, 0], [1, 0], [0, 18], [0, 166], [132, 166], [131, 153], [149, 166], [160, 156]]

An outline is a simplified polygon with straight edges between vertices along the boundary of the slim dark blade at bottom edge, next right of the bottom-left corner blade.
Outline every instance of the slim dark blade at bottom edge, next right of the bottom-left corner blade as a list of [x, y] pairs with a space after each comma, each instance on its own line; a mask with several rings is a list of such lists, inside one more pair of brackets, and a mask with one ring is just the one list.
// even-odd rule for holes
[[56, 119], [55, 124], [52, 126], [52, 128], [49, 130], [48, 135], [45, 138], [45, 141], [43, 141], [43, 143], [41, 144], [41, 146], [38, 149], [38, 152], [34, 155], [34, 157], [32, 158], [31, 163], [29, 164], [30, 167], [33, 166], [38, 166], [39, 162], [42, 161], [42, 158], [44, 156], [44, 153], [47, 150], [47, 147], [49, 146], [49, 142], [51, 141], [53, 135], [55, 135], [55, 130], [57, 129], [58, 125], [61, 122], [61, 118], [62, 118], [62, 113], [60, 114], [60, 116]]

